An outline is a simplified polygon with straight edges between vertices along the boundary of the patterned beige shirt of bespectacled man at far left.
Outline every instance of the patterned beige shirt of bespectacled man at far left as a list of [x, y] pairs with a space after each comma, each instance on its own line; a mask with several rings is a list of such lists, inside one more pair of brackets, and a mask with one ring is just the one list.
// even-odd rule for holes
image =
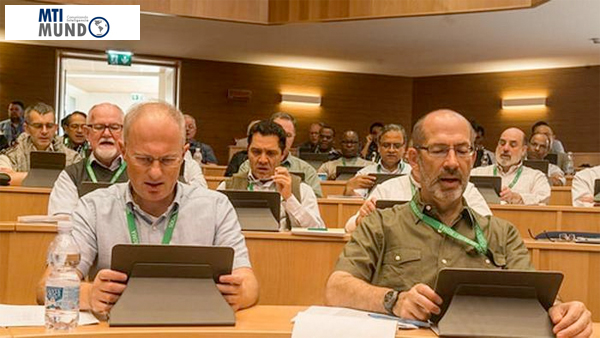
[[[18, 172], [29, 171], [29, 154], [32, 151], [38, 151], [31, 136], [29, 134], [21, 134], [17, 139], [17, 144], [8, 148], [0, 155], [0, 168], [10, 168]], [[66, 155], [66, 164], [69, 166], [73, 163], [81, 161], [82, 157], [74, 150], [65, 147], [64, 144], [55, 137], [46, 149], [46, 151], [54, 151], [64, 153]]]

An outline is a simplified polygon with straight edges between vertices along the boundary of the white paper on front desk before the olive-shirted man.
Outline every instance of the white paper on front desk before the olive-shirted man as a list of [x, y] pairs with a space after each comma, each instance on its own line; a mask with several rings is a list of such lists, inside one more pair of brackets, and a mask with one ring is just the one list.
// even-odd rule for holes
[[340, 316], [300, 312], [292, 338], [394, 338], [396, 322], [362, 316]]

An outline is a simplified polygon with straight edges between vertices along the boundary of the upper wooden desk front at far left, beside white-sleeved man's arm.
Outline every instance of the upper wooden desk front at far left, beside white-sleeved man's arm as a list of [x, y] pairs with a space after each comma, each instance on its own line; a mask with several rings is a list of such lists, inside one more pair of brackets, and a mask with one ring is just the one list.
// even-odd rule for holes
[[50, 188], [0, 187], [0, 221], [23, 215], [46, 215]]

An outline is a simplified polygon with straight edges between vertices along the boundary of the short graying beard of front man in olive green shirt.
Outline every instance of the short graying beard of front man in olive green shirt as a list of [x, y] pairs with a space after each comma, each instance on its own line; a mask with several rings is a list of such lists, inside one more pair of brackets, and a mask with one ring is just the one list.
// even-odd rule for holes
[[[420, 170], [421, 189], [427, 189], [427, 192], [437, 201], [455, 201], [462, 197], [463, 192], [467, 187], [467, 180], [463, 177], [458, 169], [447, 169], [442, 167], [439, 175], [434, 177], [422, 170], [424, 168], [423, 160], [417, 159]], [[441, 185], [442, 179], [458, 179], [460, 185], [454, 189], [444, 189]]]

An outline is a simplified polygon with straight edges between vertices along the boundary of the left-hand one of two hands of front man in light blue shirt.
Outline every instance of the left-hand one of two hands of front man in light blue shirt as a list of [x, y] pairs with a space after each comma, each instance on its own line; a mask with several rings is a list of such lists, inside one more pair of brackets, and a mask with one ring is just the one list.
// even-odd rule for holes
[[119, 297], [127, 287], [127, 275], [110, 270], [103, 269], [98, 272], [89, 295], [89, 308], [94, 312], [106, 315], [115, 305]]

